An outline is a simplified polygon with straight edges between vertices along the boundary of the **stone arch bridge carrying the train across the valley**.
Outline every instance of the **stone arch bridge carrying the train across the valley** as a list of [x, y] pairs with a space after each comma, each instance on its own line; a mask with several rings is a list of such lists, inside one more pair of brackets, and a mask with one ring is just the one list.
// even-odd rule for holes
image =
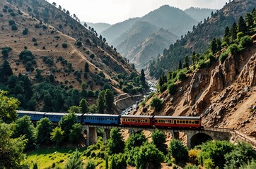
[[[83, 132], [86, 133], [86, 145], [95, 144], [97, 142], [97, 128], [103, 128], [104, 132], [104, 141], [109, 139], [110, 130], [113, 127], [119, 129], [129, 130], [129, 133], [132, 132], [141, 132], [147, 130], [153, 132], [156, 130], [156, 127], [130, 127], [130, 126], [110, 126], [110, 125], [83, 125]], [[169, 128], [158, 128], [162, 132], [172, 134], [172, 138], [179, 139], [179, 132], [184, 132], [187, 136], [187, 147], [194, 148], [194, 146], [202, 144], [209, 139], [213, 140], [226, 140], [231, 142], [245, 141], [249, 142], [256, 148], [256, 143], [254, 140], [250, 140], [239, 134], [238, 131], [227, 129], [227, 128], [214, 128], [214, 127], [204, 127], [204, 129], [169, 129]]]

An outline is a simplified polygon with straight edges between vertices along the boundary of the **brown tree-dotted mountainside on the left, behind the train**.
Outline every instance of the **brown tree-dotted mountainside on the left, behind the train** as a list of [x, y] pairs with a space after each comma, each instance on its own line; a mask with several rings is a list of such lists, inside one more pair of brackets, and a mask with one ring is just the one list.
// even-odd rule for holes
[[18, 98], [20, 109], [63, 112], [82, 98], [95, 104], [101, 89], [142, 91], [120, 84], [136, 70], [69, 10], [44, 0], [0, 6], [0, 89]]

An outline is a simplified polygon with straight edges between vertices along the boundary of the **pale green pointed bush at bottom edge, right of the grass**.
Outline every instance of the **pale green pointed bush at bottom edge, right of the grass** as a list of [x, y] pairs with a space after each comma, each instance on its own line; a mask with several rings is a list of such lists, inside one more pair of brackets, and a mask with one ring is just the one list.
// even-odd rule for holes
[[[83, 169], [83, 161], [80, 158], [80, 153], [78, 150], [74, 152], [74, 155], [69, 158], [69, 161], [66, 163], [64, 169]], [[86, 168], [86, 169], [95, 169], [95, 168]]]

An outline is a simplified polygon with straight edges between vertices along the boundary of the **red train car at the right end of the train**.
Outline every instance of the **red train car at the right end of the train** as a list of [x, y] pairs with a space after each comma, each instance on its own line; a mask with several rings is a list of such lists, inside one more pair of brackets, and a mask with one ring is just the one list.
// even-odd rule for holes
[[153, 125], [156, 127], [202, 127], [200, 117], [185, 117], [185, 116], [160, 116], [156, 115], [153, 118]]

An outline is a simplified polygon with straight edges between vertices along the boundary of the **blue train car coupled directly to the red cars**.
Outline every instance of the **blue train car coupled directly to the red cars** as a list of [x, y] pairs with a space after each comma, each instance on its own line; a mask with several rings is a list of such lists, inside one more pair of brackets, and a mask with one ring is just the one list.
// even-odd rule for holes
[[119, 125], [120, 115], [83, 114], [83, 123], [95, 125]]

